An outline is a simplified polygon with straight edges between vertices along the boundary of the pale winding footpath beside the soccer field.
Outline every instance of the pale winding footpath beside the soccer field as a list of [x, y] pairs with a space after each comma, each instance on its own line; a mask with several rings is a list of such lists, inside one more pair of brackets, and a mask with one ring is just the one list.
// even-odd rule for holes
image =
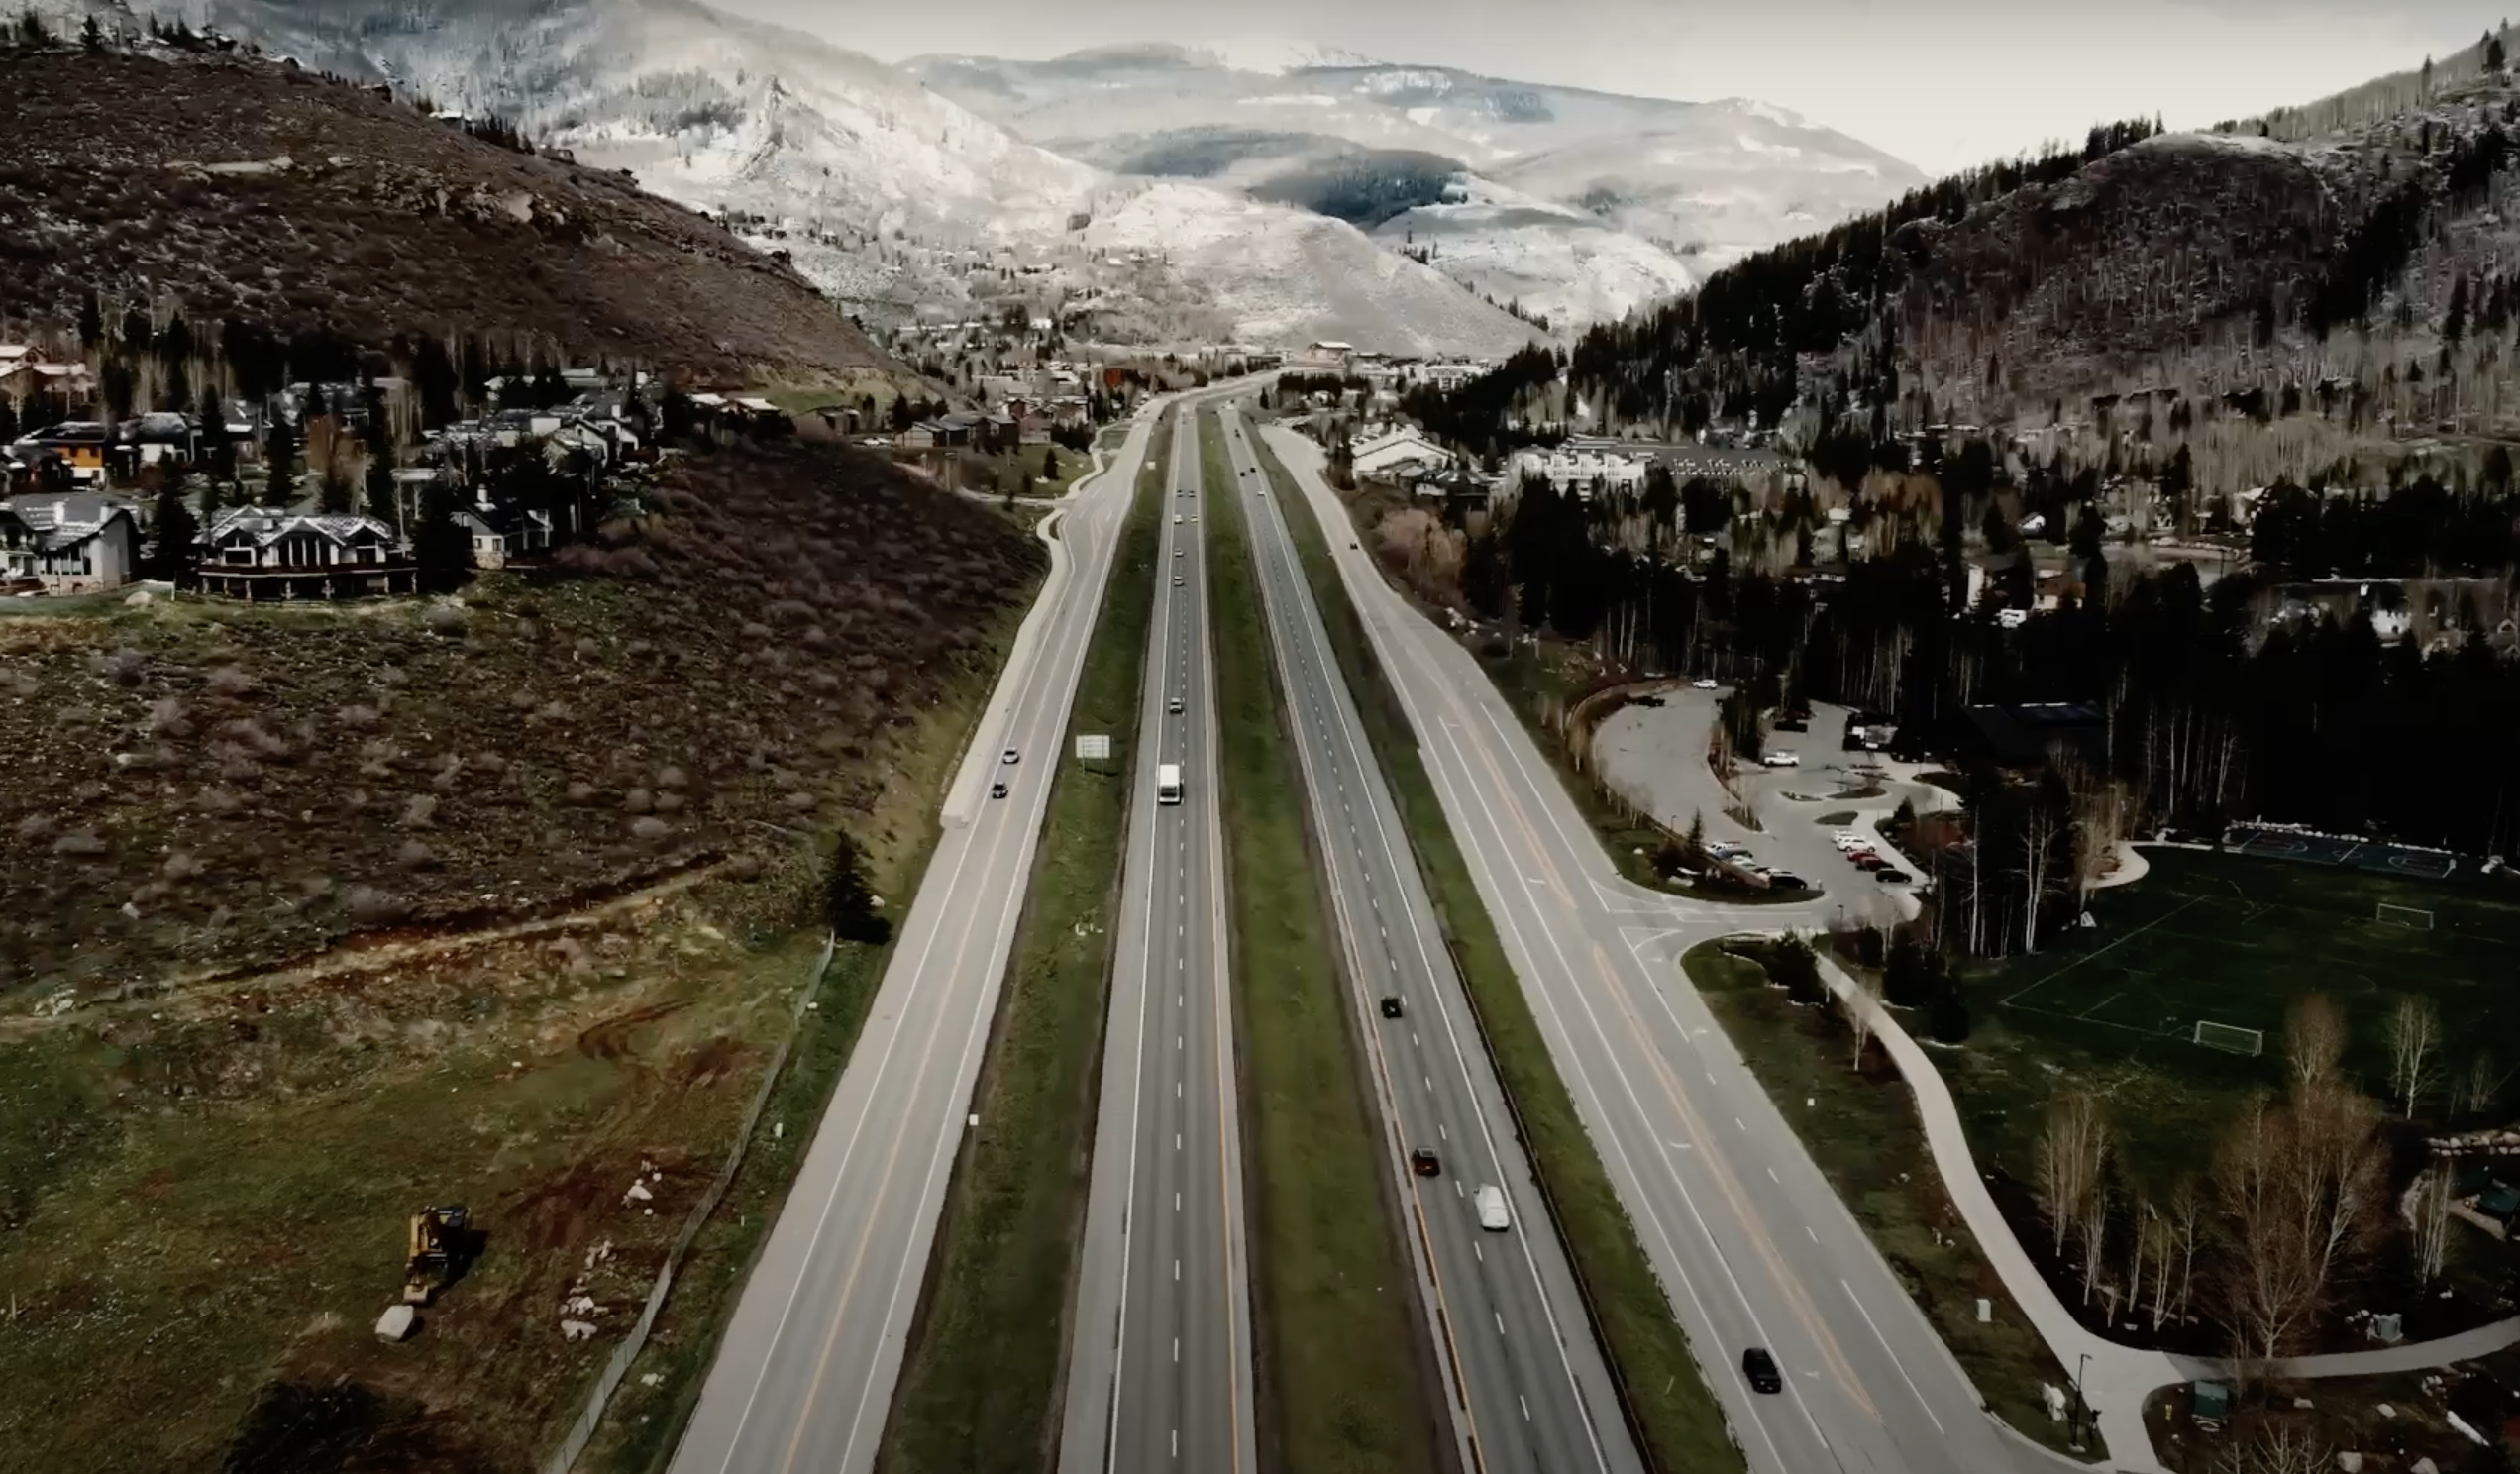
[[[1855, 990], [1855, 980], [1827, 952], [1819, 955], [1819, 975], [1837, 998], [1847, 998]], [[1996, 1207], [1993, 1194], [1986, 1192], [1986, 1174], [1978, 1172], [1978, 1162], [1968, 1151], [1968, 1134], [1961, 1129], [1961, 1111], [1950, 1099], [1950, 1086], [1943, 1083], [1943, 1071], [1933, 1066], [1933, 1056], [1900, 1026], [1890, 1008], [1875, 1000], [1870, 1010], [1872, 1036], [1890, 1053], [1890, 1061], [1915, 1094], [1915, 1114], [1925, 1126], [1925, 1144], [1933, 1151], [1935, 1172], [1943, 1174], [1943, 1187], [1968, 1222], [1968, 1232], [1978, 1237], [1978, 1252], [1996, 1267], [2003, 1288], [2011, 1290], [2021, 1313], [2029, 1315], [2039, 1338], [2046, 1340], [2069, 1373], [2082, 1366], [2084, 1356], [2092, 1358], [2089, 1368], [2084, 1368], [2084, 1401], [2092, 1403], [2099, 1434], [2109, 1441], [2109, 1466], [2160, 1474], [2162, 1464], [2152, 1456], [2152, 1436], [2145, 1429], [2145, 1398], [2155, 1388], [2177, 1381], [2230, 1376], [2230, 1363], [2119, 1345], [2074, 1320], [2064, 1300], [2046, 1283], [2046, 1275], [2021, 1250], [2021, 1240], [2013, 1237], [2013, 1227], [2006, 1222], [2003, 1209]], [[2520, 1345], [2520, 1318], [2497, 1320], [2439, 1340], [2301, 1356], [2278, 1361], [2271, 1373], [2278, 1378], [2321, 1378], [2422, 1371], [2472, 1356], [2490, 1356], [2505, 1345]]]

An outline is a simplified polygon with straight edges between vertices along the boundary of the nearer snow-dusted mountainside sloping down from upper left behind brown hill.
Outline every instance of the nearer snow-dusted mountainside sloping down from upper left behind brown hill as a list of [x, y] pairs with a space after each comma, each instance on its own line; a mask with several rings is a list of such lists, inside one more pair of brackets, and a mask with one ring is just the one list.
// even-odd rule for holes
[[[45, 0], [123, 10], [116, 0]], [[499, 113], [728, 212], [869, 323], [1084, 312], [1086, 335], [1509, 353], [1527, 323], [1293, 204], [1121, 179], [900, 68], [696, 0], [156, 0], [265, 50]], [[1283, 43], [1240, 66], [1356, 60]]]

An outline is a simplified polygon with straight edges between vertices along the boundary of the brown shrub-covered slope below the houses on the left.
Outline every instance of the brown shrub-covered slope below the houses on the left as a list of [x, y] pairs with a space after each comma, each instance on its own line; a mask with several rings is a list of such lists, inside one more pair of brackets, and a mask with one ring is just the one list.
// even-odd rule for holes
[[0, 620], [0, 998], [769, 867], [1043, 559], [854, 451], [673, 461], [648, 499], [459, 602]]

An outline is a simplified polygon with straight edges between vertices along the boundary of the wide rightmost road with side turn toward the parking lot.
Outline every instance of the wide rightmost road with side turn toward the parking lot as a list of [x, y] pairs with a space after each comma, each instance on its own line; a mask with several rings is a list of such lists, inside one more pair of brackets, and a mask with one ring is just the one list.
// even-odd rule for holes
[[[1320, 448], [1263, 433], [1331, 532], [1550, 1056], [1751, 1469], [2056, 1469], [1981, 1411], [1678, 975], [1681, 950], [1698, 940], [1817, 927], [1832, 902], [1724, 910], [1628, 884], [1472, 653], [1351, 547], [1346, 509], [1320, 484]], [[1782, 1393], [1759, 1396], [1741, 1378], [1746, 1345], [1777, 1356]]]

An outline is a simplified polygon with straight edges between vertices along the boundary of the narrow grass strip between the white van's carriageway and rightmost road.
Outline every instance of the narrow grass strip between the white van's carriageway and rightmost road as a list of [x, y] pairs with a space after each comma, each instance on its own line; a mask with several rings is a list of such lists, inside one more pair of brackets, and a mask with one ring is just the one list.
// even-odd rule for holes
[[1658, 1469], [1739, 1469], [1741, 1454], [1724, 1434], [1724, 1408], [1706, 1388], [1688, 1348], [1688, 1333], [1671, 1315], [1671, 1300], [1635, 1237], [1600, 1154], [1575, 1114], [1565, 1081], [1550, 1061], [1547, 1038], [1532, 1018], [1522, 980], [1479, 902], [1477, 882], [1436, 801], [1434, 781], [1419, 761], [1416, 736], [1399, 706], [1356, 605], [1331, 559], [1320, 519], [1305, 511], [1303, 491], [1260, 438], [1252, 438], [1295, 537], [1295, 552], [1313, 602], [1320, 607], [1331, 650], [1356, 693], [1356, 708], [1373, 756], [1391, 784], [1419, 874], [1436, 907], [1454, 968], [1459, 968], [1479, 1018], [1479, 1036], [1512, 1101], [1522, 1144], [1555, 1209], [1557, 1232], [1585, 1290], [1610, 1376], [1620, 1383], [1628, 1416]]

